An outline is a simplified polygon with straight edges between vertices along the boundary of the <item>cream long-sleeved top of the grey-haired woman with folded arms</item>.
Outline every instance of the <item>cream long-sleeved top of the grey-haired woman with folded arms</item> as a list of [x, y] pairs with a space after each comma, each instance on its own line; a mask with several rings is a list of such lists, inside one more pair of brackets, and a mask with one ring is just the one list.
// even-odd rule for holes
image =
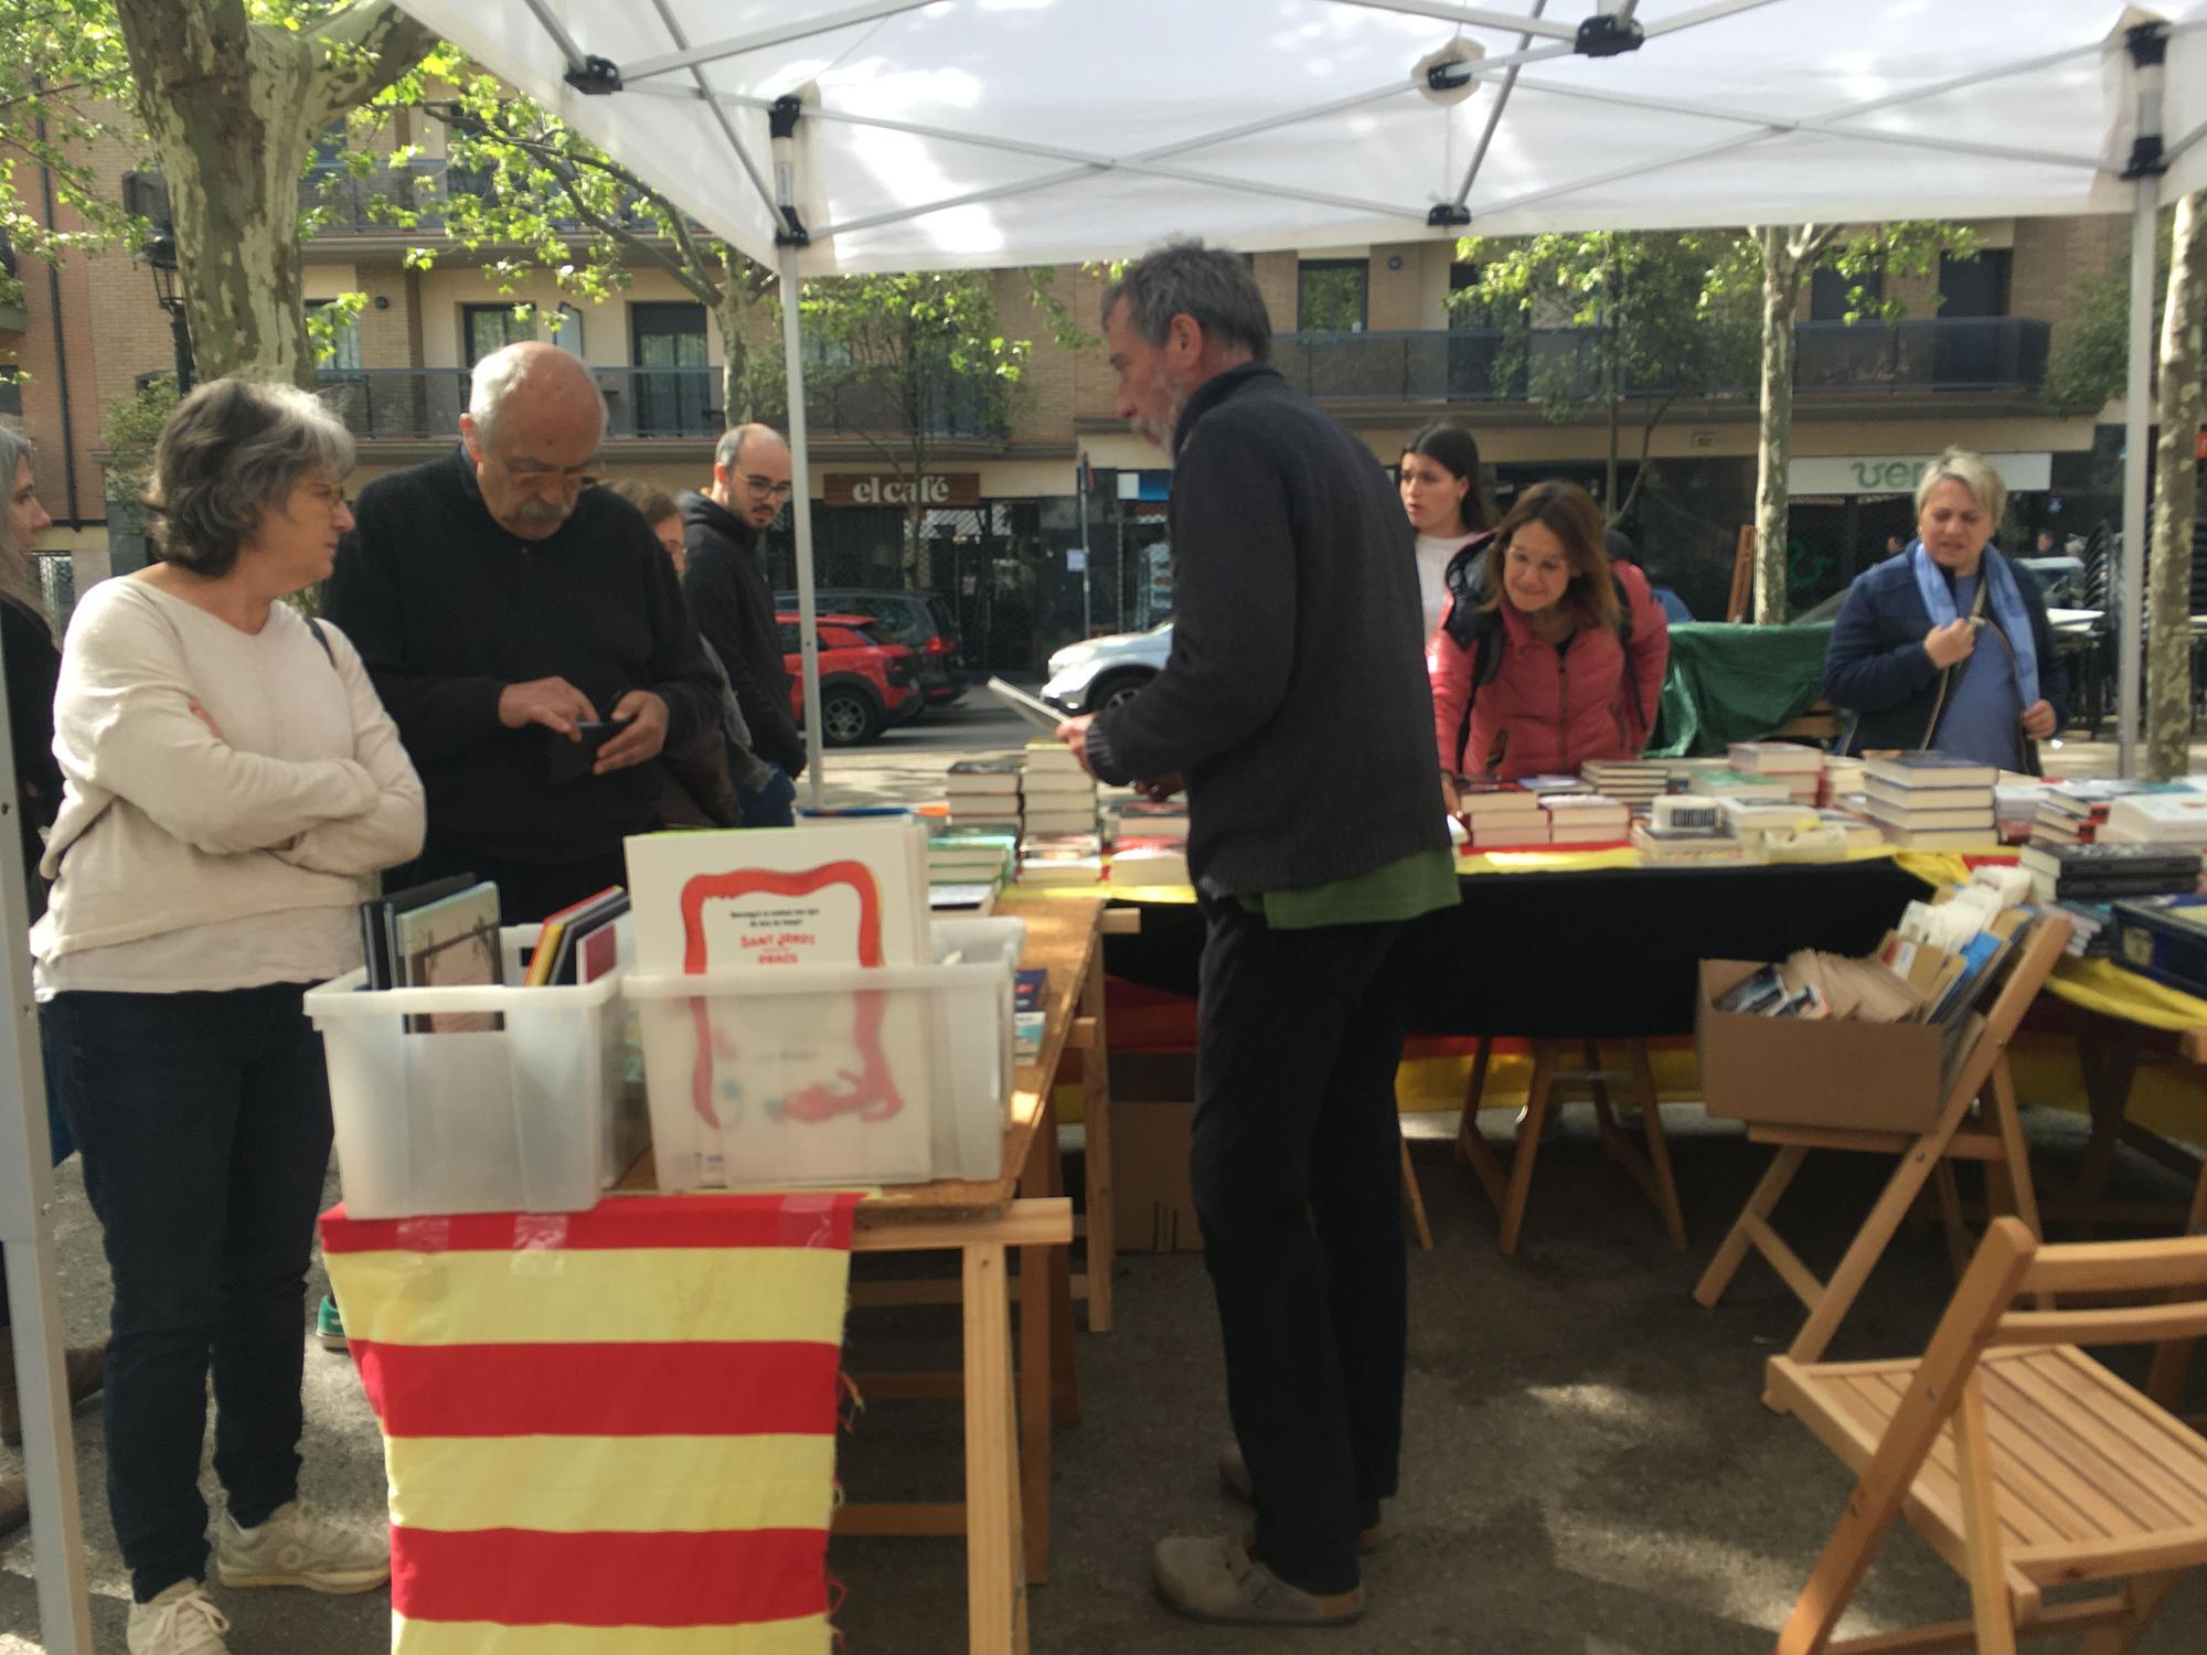
[[66, 790], [31, 929], [40, 1000], [360, 964], [355, 905], [422, 850], [422, 781], [351, 642], [322, 636], [327, 655], [289, 605], [245, 633], [146, 580], [84, 596], [53, 697]]

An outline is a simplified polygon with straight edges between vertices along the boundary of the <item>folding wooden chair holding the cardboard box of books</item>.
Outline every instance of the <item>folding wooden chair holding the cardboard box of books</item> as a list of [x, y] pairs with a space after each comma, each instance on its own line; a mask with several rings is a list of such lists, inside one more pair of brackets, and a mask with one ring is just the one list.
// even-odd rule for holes
[[[2006, 984], [1993, 1000], [1969, 1053], [1955, 1064], [1938, 1119], [1920, 1134], [1869, 1132], [1845, 1125], [1772, 1125], [1750, 1123], [1748, 1139], [1774, 1143], [1777, 1158], [1755, 1185], [1748, 1205], [1726, 1234], [1717, 1256], [1708, 1262], [1695, 1302], [1713, 1306], [1724, 1298], [1732, 1275], [1746, 1262], [1748, 1249], [1770, 1260], [1770, 1267], [1808, 1306], [1808, 1322], [1792, 1342], [1788, 1355], [1794, 1362], [1814, 1362], [1832, 1344], [1841, 1320], [1854, 1306], [1863, 1282], [1876, 1269], [1885, 1245], [1900, 1229], [1925, 1183], [1938, 1176], [1938, 1194], [1947, 1209], [1949, 1245], [1955, 1249], [1960, 1267], [1964, 1236], [1960, 1203], [1953, 1187], [1955, 1161], [1982, 1161], [1986, 1165], [1989, 1192], [2004, 1200], [2024, 1220], [2030, 1234], [2039, 1234], [2039, 1203], [2030, 1187], [2030, 1156], [2024, 1145], [2022, 1117], [2015, 1106], [2015, 1079], [2008, 1075], [2008, 1039], [2024, 1019], [2039, 986], [2061, 958], [2068, 944], [2070, 925], [2066, 918], [2048, 916], [2033, 920], [2017, 938], [2019, 955], [2008, 971]], [[1772, 1086], [1783, 1086], [1783, 1077], [1772, 1077]], [[1975, 1119], [1971, 1110], [1975, 1108]], [[1867, 1154], [1898, 1156], [1894, 1176], [1885, 1183], [1885, 1194], [1869, 1209], [1863, 1227], [1854, 1234], [1845, 1258], [1832, 1271], [1830, 1282], [1801, 1262], [1801, 1256], [1770, 1227], [1770, 1211], [1779, 1205], [1785, 1187], [1801, 1172], [1810, 1150], [1854, 1150]]]

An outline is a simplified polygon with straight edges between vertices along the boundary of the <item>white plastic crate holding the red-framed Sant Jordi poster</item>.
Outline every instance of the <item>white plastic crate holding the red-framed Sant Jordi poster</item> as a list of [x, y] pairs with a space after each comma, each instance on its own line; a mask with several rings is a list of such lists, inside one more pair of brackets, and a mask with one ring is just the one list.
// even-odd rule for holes
[[660, 1189], [998, 1176], [1026, 922], [929, 938], [927, 967], [627, 975]]

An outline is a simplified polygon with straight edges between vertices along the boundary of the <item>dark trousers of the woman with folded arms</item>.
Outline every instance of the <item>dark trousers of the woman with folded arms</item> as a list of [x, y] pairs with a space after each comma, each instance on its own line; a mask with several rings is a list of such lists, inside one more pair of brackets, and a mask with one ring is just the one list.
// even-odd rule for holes
[[331, 1139], [300, 989], [60, 993], [44, 1008], [46, 1077], [115, 1280], [108, 1509], [139, 1602], [205, 1573], [210, 1368], [230, 1514], [252, 1527], [298, 1494], [307, 1262]]

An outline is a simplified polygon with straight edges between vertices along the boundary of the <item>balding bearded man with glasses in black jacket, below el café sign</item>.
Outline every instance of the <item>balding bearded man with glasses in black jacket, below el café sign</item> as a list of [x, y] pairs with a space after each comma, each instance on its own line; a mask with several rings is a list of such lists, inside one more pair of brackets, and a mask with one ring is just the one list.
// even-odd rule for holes
[[697, 616], [697, 631], [728, 669], [753, 748], [775, 768], [764, 788], [737, 783], [746, 828], [788, 828], [795, 821], [795, 783], [806, 772], [806, 737], [790, 715], [790, 673], [781, 664], [775, 589], [759, 554], [759, 534], [786, 499], [790, 450], [768, 426], [722, 433], [711, 488], [682, 496], [682, 541], [689, 547], [682, 591]]

